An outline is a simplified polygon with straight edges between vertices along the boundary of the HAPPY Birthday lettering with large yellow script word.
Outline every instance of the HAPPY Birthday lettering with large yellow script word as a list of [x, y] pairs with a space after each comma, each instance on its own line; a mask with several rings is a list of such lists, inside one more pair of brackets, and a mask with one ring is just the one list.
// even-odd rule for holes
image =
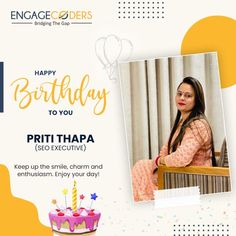
[[[55, 76], [56, 71], [34, 71], [35, 79], [38, 79], [36, 78], [38, 76], [51, 75]], [[43, 77], [43, 80], [42, 83], [37, 83], [35, 87], [30, 84], [32, 79], [26, 77], [20, 77], [11, 83], [14, 90], [13, 99], [20, 109], [27, 109], [35, 101], [57, 105], [63, 100], [66, 100], [70, 106], [79, 104], [83, 107], [89, 102], [92, 103], [92, 111], [95, 115], [101, 115], [106, 110], [109, 91], [106, 88], [91, 88], [89, 74], [83, 75], [81, 81], [75, 88], [71, 86], [72, 79], [70, 75], [64, 75], [61, 79], [50, 78], [50, 81], [47, 81]], [[55, 114], [55, 112], [49, 111], [49, 114]]]

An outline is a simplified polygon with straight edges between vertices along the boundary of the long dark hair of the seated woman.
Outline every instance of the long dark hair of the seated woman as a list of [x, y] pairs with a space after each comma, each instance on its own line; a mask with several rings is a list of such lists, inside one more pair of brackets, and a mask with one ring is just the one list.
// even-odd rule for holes
[[[179, 121], [180, 121], [180, 117], [181, 117], [181, 113], [178, 110], [176, 118], [175, 118], [174, 126], [171, 130], [170, 138], [169, 138], [169, 141], [168, 141], [168, 154], [170, 154], [170, 152], [174, 152], [177, 149], [178, 145], [182, 142], [182, 139], [184, 137], [186, 128], [190, 127], [191, 122], [193, 122], [194, 120], [199, 120], [199, 119], [204, 119], [204, 120], [207, 121], [207, 118], [204, 114], [205, 113], [205, 99], [204, 99], [204, 93], [203, 93], [202, 85], [200, 84], [200, 82], [197, 79], [195, 79], [193, 77], [185, 77], [183, 79], [183, 81], [180, 83], [180, 85], [178, 86], [178, 88], [183, 83], [189, 84], [193, 88], [194, 94], [195, 94], [195, 105], [194, 105], [191, 113], [189, 114], [188, 118], [183, 122], [183, 124], [180, 128], [180, 132], [179, 132], [178, 136], [175, 138], [175, 140], [172, 143], [171, 141], [172, 141], [173, 135], [174, 135], [175, 131], [177, 130], [177, 127], [178, 127], [178, 124], [179, 124]], [[209, 125], [209, 127], [210, 127], [210, 125]], [[212, 165], [216, 166], [212, 130], [211, 130], [211, 147], [212, 147], [211, 148], [211, 151], [212, 151]]]

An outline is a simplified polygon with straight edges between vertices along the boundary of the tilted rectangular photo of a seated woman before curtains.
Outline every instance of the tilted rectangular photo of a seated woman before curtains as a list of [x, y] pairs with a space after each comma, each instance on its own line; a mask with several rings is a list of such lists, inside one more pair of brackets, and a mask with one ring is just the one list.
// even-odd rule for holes
[[230, 191], [217, 54], [120, 63], [119, 73], [134, 201], [161, 189]]

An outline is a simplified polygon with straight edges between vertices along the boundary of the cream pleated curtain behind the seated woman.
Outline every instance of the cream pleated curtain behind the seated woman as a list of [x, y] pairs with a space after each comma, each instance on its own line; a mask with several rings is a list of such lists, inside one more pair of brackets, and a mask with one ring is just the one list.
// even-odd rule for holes
[[225, 130], [216, 53], [121, 63], [119, 74], [131, 166], [155, 158], [167, 142], [177, 112], [176, 89], [187, 76], [203, 86], [206, 116], [220, 151]]

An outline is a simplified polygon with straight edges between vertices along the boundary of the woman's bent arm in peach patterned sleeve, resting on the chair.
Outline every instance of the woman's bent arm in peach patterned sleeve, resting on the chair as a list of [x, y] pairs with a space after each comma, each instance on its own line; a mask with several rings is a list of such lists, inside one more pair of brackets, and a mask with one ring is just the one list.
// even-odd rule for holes
[[211, 132], [208, 123], [201, 119], [193, 121], [186, 128], [183, 140], [175, 152], [161, 157], [159, 164], [167, 166], [184, 167], [191, 163], [196, 152], [211, 140]]

